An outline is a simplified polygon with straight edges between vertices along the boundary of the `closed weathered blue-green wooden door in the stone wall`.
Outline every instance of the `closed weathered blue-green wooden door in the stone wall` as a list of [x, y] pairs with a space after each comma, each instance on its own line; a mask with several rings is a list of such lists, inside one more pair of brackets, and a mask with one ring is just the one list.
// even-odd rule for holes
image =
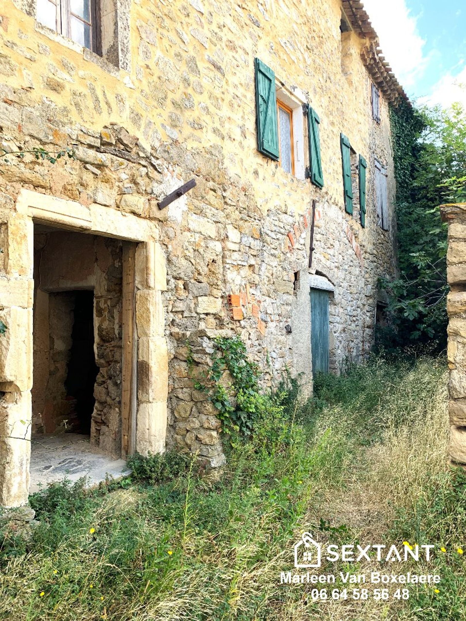
[[311, 289], [313, 375], [329, 371], [329, 292]]

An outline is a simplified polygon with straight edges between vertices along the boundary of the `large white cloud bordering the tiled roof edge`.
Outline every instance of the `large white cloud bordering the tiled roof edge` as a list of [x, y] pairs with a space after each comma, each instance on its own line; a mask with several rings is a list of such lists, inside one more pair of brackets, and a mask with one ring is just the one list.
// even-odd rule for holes
[[429, 63], [423, 52], [425, 41], [418, 32], [418, 18], [409, 12], [405, 0], [363, 0], [363, 4], [378, 34], [383, 55], [401, 86], [411, 90]]

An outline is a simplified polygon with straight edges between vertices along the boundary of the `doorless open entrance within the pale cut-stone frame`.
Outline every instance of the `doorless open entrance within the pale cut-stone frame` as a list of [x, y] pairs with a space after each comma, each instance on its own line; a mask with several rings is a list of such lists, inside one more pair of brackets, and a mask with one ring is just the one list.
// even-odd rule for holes
[[121, 461], [122, 247], [34, 225], [31, 489]]

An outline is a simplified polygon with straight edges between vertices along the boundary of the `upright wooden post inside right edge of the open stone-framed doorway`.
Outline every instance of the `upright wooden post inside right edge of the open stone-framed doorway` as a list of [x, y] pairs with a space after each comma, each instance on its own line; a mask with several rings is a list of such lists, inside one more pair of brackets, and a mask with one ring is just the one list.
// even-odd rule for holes
[[[135, 330], [135, 253], [134, 243], [123, 244], [123, 304], [122, 304], [122, 378], [121, 378], [121, 453], [134, 453], [136, 368], [134, 350], [137, 347]], [[136, 358], [137, 359], [137, 358]]]

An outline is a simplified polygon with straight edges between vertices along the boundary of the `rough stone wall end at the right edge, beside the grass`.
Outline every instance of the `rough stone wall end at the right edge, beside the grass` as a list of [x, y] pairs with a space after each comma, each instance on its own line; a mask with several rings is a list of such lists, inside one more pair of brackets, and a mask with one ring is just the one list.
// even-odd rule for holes
[[448, 222], [450, 456], [454, 463], [466, 465], [466, 203], [441, 209]]

